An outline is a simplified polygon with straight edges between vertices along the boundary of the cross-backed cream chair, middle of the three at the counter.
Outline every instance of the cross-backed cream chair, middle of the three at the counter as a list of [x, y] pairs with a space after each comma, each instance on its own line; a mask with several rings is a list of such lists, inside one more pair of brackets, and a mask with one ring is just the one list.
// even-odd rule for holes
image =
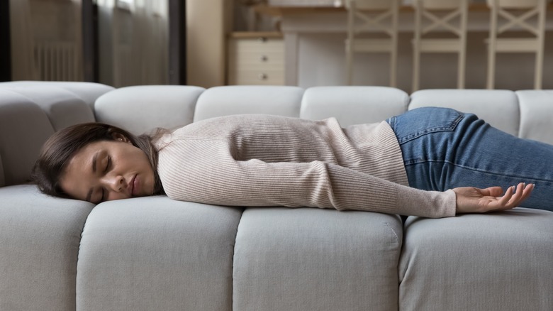
[[[457, 87], [464, 88], [469, 0], [413, 0], [413, 92], [419, 88], [421, 53], [458, 53]], [[456, 21], [458, 20], [458, 21]], [[438, 33], [441, 31], [441, 33]], [[436, 38], [444, 34], [447, 38]], [[423, 38], [433, 32], [432, 38]], [[451, 38], [451, 34], [454, 38]]]

